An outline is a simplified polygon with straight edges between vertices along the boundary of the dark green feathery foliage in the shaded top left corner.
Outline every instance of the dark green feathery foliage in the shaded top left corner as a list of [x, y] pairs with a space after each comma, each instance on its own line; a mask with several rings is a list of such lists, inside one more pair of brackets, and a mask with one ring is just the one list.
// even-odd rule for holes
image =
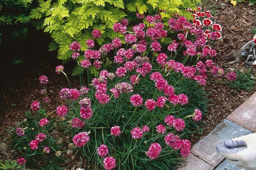
[[[0, 36], [17, 40], [20, 36], [26, 36], [30, 22], [29, 7], [32, 0], [0, 0]], [[1, 43], [1, 38], [0, 38]]]

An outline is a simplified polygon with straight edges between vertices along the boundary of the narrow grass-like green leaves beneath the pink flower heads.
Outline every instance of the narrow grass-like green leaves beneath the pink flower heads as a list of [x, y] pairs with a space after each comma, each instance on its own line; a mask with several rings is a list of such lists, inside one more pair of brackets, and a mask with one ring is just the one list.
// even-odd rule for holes
[[[50, 123], [45, 127], [40, 127], [38, 121], [41, 118], [45, 118], [48, 115], [45, 109], [40, 109], [38, 113], [32, 114], [27, 112], [26, 122], [21, 122], [19, 126], [27, 129], [25, 130], [24, 137], [18, 137], [14, 132], [12, 134], [12, 146], [18, 152], [20, 152], [26, 159], [26, 165], [36, 167], [39, 165], [41, 169], [59, 169], [66, 167], [71, 162], [71, 156], [67, 156], [67, 145], [72, 143], [72, 138], [81, 131], [90, 131], [90, 141], [83, 147], [73, 150], [73, 154], [76, 158], [82, 158], [85, 164], [92, 165], [93, 169], [100, 169], [102, 167], [103, 158], [98, 156], [97, 147], [100, 144], [105, 144], [109, 147], [109, 155], [116, 159], [118, 169], [150, 169], [150, 170], [170, 170], [175, 169], [175, 166], [179, 163], [179, 153], [177, 150], [172, 149], [165, 144], [164, 135], [159, 135], [156, 132], [156, 125], [163, 124], [164, 118], [167, 115], [173, 115], [176, 118], [184, 118], [191, 115], [195, 108], [199, 108], [202, 112], [206, 113], [207, 101], [206, 91], [201, 88], [197, 83], [182, 78], [182, 75], [178, 73], [172, 73], [168, 76], [168, 83], [173, 85], [177, 93], [184, 93], [190, 99], [189, 103], [185, 106], [176, 105], [171, 106], [168, 109], [164, 107], [162, 109], [156, 108], [155, 111], [150, 112], [145, 107], [138, 107], [134, 112], [134, 106], [129, 101], [130, 94], [123, 93], [119, 99], [111, 99], [108, 104], [101, 105], [97, 100], [92, 100], [93, 115], [89, 120], [85, 121], [85, 127], [83, 129], [74, 129], [70, 127], [69, 120], [74, 117], [79, 117], [79, 104], [78, 102], [69, 102], [71, 110], [69, 114], [65, 116], [65, 120], [60, 118], [54, 118], [50, 120]], [[156, 99], [156, 87], [154, 83], [145, 78], [134, 93], [143, 92], [142, 97]], [[123, 80], [126, 80], [124, 78]], [[120, 80], [122, 82], [123, 80]], [[114, 80], [115, 81], [115, 80]], [[93, 99], [93, 90], [90, 90], [87, 97]], [[126, 101], [126, 102], [124, 102]], [[133, 115], [133, 116], [132, 116]], [[132, 116], [132, 117], [131, 117]], [[121, 131], [127, 120], [130, 119], [126, 125], [124, 132], [119, 137], [114, 137], [110, 134], [110, 129], [114, 125], [119, 125]], [[179, 134], [181, 138], [187, 139], [191, 133], [199, 130], [199, 124], [195, 123], [192, 119], [185, 119], [186, 128], [182, 132], [175, 132]], [[142, 139], [132, 139], [130, 130], [134, 127], [142, 127], [148, 125], [150, 131], [143, 135]], [[32, 130], [33, 128], [33, 130]], [[15, 130], [14, 130], [15, 131]], [[54, 132], [55, 131], [55, 132]], [[30, 150], [28, 144], [33, 140], [39, 132], [47, 134], [47, 139], [40, 143], [39, 149]], [[57, 132], [57, 135], [52, 135]], [[167, 127], [167, 132], [174, 132], [172, 127]], [[57, 137], [54, 137], [57, 136]], [[60, 142], [62, 141], [62, 142]], [[159, 157], [155, 160], [149, 159], [145, 152], [153, 142], [159, 142], [162, 146], [162, 151]], [[52, 150], [49, 154], [43, 153], [43, 146], [49, 146]], [[26, 149], [24, 149], [26, 147]], [[62, 151], [61, 157], [56, 157], [54, 154], [56, 151]], [[65, 161], [68, 161], [65, 165]], [[79, 160], [80, 161], [80, 160]]]

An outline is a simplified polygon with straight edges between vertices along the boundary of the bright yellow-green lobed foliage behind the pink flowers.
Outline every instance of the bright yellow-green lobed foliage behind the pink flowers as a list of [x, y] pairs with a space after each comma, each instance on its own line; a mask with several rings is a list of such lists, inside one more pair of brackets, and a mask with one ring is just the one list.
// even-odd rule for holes
[[101, 31], [102, 37], [97, 42], [102, 45], [118, 36], [112, 30], [113, 24], [123, 18], [135, 21], [135, 12], [151, 15], [160, 12], [166, 21], [177, 13], [190, 18], [185, 9], [195, 9], [201, 0], [38, 0], [38, 3], [31, 11], [31, 18], [36, 19], [34, 24], [51, 34], [49, 50], [58, 50], [58, 58], [67, 60], [73, 41], [81, 43], [81, 50], [87, 49], [86, 40], [92, 38], [92, 29]]

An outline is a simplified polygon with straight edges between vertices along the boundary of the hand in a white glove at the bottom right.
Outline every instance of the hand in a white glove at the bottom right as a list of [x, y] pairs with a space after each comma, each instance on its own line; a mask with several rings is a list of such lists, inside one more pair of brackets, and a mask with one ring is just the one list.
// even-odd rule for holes
[[256, 170], [256, 134], [228, 139], [216, 149], [238, 168]]

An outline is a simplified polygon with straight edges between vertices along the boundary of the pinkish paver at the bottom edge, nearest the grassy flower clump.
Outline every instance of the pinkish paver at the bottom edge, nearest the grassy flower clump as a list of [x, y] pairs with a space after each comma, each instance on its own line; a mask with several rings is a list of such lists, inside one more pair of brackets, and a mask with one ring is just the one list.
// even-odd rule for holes
[[213, 166], [209, 165], [208, 163], [204, 162], [197, 156], [191, 154], [188, 158], [185, 165], [182, 168], [178, 168], [178, 170], [199, 170], [199, 167], [203, 168], [204, 170], [213, 170]]

